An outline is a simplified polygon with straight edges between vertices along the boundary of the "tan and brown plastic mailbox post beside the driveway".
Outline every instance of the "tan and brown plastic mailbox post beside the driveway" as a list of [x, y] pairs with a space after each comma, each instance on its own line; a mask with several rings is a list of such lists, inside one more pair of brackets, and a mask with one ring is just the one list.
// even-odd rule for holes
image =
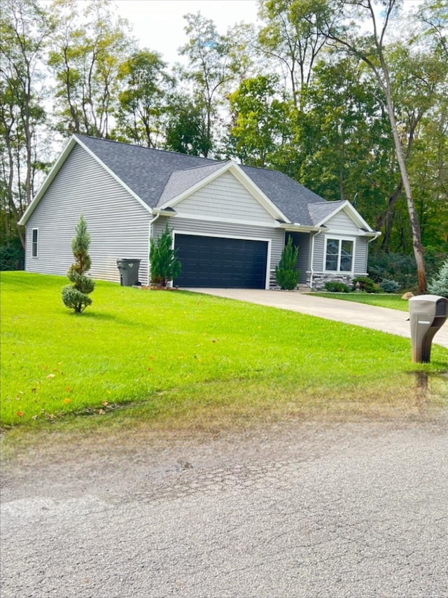
[[448, 299], [438, 295], [419, 295], [409, 299], [412, 361], [429, 363], [431, 343], [448, 316]]

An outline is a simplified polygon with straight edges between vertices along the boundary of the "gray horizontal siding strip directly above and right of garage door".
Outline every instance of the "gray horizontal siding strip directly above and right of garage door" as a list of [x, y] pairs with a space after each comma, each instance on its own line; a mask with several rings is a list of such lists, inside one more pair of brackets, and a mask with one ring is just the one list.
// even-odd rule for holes
[[209, 222], [204, 220], [190, 220], [188, 218], [159, 218], [154, 223], [154, 237], [157, 238], [165, 230], [168, 224], [174, 232], [188, 234], [205, 234], [223, 237], [241, 237], [243, 239], [265, 239], [272, 241], [270, 268], [275, 268], [279, 263], [284, 245], [284, 232], [280, 228], [256, 227], [251, 225], [239, 225], [231, 222]]

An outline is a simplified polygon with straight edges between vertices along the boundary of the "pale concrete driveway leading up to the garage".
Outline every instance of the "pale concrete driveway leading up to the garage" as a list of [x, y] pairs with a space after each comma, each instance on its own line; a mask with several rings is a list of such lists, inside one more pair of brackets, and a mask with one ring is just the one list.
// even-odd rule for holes
[[[353, 301], [341, 299], [325, 299], [316, 297], [311, 293], [300, 293], [290, 291], [265, 291], [247, 289], [186, 289], [193, 292], [200, 292], [216, 297], [247, 301], [279, 309], [298, 311], [307, 315], [316, 315], [318, 318], [337, 320], [356, 326], [372, 328], [381, 332], [389, 332], [398, 336], [405, 336], [410, 339], [411, 330], [405, 311], [374, 307]], [[403, 301], [405, 301], [403, 299]], [[448, 323], [435, 334], [433, 343], [448, 348]]]

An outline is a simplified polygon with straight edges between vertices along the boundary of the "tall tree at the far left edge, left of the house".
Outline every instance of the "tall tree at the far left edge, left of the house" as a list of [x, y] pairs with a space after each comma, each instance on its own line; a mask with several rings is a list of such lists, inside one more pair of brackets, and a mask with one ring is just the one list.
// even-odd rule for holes
[[41, 80], [45, 43], [52, 26], [34, 0], [3, 0], [0, 22], [1, 211], [6, 235], [9, 216], [18, 221], [34, 193], [38, 127], [45, 122]]

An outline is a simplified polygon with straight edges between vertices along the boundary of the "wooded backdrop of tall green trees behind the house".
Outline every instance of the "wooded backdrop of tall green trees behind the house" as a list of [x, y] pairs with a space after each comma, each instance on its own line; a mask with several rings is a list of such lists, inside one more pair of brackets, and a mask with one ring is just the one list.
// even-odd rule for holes
[[[2, 243], [74, 133], [275, 168], [347, 199], [372, 250], [448, 255], [448, 10], [259, 0], [256, 24], [185, 15], [179, 64], [139, 48], [111, 0], [3, 0]], [[50, 142], [52, 145], [50, 145]]]

